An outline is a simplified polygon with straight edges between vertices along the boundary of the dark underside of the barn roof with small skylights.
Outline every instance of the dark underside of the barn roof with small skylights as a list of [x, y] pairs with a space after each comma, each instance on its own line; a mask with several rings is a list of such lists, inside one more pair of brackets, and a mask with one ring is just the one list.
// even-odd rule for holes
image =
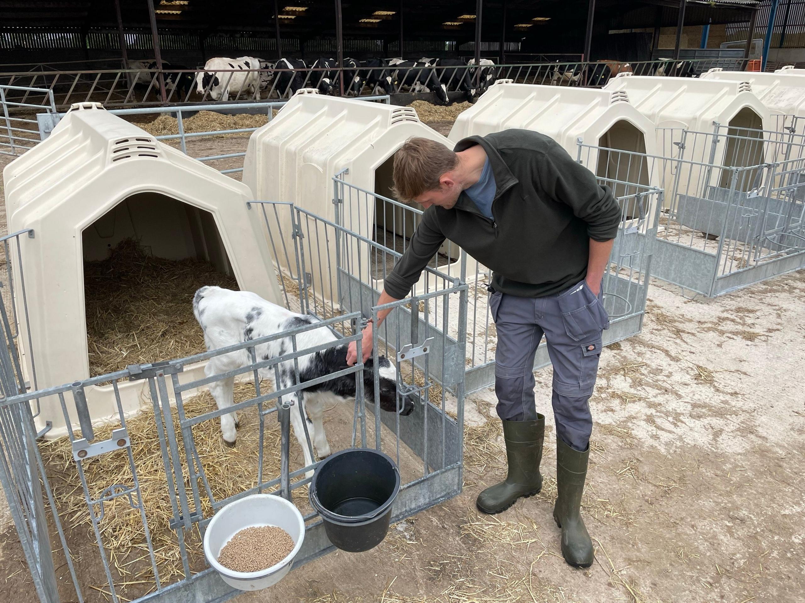
[[[119, 0], [125, 28], [149, 27], [146, 0]], [[484, 39], [500, 39], [504, 0], [483, 3]], [[206, 35], [215, 31], [275, 31], [274, 2], [239, 0], [225, 5], [220, 0], [154, 0], [158, 27], [192, 29]], [[748, 21], [757, 0], [691, 0], [686, 25]], [[117, 27], [113, 0], [0, 0], [4, 28]], [[225, 8], [222, 8], [225, 6]], [[335, 35], [335, 2], [332, 0], [283, 0], [279, 7], [283, 36], [303, 39]], [[539, 36], [545, 27], [572, 23], [584, 27], [588, 0], [506, 0], [506, 37]], [[675, 26], [676, 0], [598, 0], [596, 22], [609, 29]], [[396, 38], [403, 12], [407, 38], [473, 39], [474, 0], [343, 0], [344, 35]], [[544, 20], [535, 20], [544, 19]]]

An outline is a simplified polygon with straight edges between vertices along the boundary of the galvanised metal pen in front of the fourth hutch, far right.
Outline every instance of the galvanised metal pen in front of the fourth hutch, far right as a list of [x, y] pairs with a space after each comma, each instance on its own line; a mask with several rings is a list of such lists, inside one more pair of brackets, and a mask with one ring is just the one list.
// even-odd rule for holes
[[666, 207], [652, 273], [708, 297], [805, 265], [805, 137], [715, 126], [659, 129], [656, 158]]

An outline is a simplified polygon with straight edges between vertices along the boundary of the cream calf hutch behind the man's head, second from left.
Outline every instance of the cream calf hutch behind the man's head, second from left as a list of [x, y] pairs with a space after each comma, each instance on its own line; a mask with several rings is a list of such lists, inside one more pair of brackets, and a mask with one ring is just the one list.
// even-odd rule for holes
[[[295, 203], [403, 252], [415, 229], [411, 212], [377, 199], [374, 194], [394, 199], [391, 191], [394, 153], [410, 137], [425, 137], [452, 147], [447, 138], [419, 121], [415, 110], [409, 107], [347, 100], [303, 89], [274, 120], [250, 137], [243, 182], [253, 191], [254, 199]], [[350, 185], [351, 191], [348, 198], [337, 203], [337, 215], [333, 203], [337, 196], [333, 189], [336, 175]], [[266, 217], [269, 224], [279, 219]], [[287, 232], [287, 224], [276, 226], [278, 232]], [[270, 237], [270, 233], [266, 232], [266, 236]], [[329, 240], [328, 244], [329, 256], [335, 257], [335, 241]], [[316, 248], [314, 253], [321, 258], [328, 256], [324, 248]], [[287, 271], [286, 260], [279, 255], [280, 267]], [[459, 256], [455, 245], [445, 243], [438, 260], [440, 269], [455, 271]], [[316, 262], [317, 258], [311, 261]], [[369, 257], [361, 261], [361, 271], [369, 271], [374, 286], [382, 289], [390, 262], [375, 265], [377, 262]], [[308, 272], [308, 278], [322, 281], [316, 284], [317, 290], [319, 285], [323, 292], [336, 290], [332, 282], [334, 267], [330, 268]], [[356, 263], [353, 270], [357, 269]], [[417, 287], [420, 289], [421, 283]]]

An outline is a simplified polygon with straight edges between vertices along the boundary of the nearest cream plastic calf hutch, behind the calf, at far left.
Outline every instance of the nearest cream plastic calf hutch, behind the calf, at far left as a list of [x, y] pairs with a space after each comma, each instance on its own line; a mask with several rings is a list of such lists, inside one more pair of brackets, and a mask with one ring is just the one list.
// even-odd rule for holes
[[[3, 177], [9, 232], [32, 231], [17, 237], [21, 265], [13, 248], [11, 260], [19, 332], [30, 329], [31, 336], [30, 349], [19, 338], [23, 370], [30, 379], [32, 349], [39, 388], [89, 377], [84, 262], [104, 259], [126, 238], [153, 256], [208, 260], [242, 289], [280, 301], [262, 232], [246, 207], [249, 187], [100, 105], [73, 105], [51, 136], [7, 166]], [[197, 379], [201, 368], [183, 378]], [[144, 383], [121, 385], [125, 412], [147, 398]], [[118, 416], [111, 386], [89, 387], [86, 397], [93, 420]], [[52, 421], [49, 435], [64, 433], [58, 400], [38, 420]]]

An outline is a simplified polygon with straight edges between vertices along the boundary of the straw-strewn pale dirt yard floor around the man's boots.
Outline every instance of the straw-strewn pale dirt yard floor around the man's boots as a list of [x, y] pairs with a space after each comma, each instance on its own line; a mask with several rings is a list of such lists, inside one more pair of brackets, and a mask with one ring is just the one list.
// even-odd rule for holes
[[[198, 141], [193, 154], [245, 142]], [[547, 368], [536, 373], [549, 424], [538, 497], [476, 511], [505, 458], [496, 420], [485, 423], [494, 393], [479, 392], [466, 401], [463, 494], [392, 527], [373, 551], [331, 554], [236, 601], [803, 601], [805, 271], [717, 299], [652, 281], [648, 297], [642, 334], [605, 349], [590, 401], [591, 568], [564, 563], [551, 517]], [[0, 503], [0, 601], [11, 600], [36, 597]]]

